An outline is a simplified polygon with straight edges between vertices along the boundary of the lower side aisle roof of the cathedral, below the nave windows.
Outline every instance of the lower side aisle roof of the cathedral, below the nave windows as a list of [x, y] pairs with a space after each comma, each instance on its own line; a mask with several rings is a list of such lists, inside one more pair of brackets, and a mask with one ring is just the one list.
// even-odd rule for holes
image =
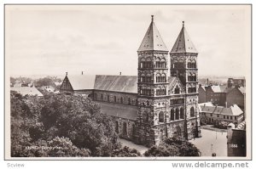
[[104, 103], [104, 102], [96, 102], [96, 103], [101, 105], [103, 114], [125, 118], [132, 121], [137, 120], [136, 106], [126, 105], [126, 104]]

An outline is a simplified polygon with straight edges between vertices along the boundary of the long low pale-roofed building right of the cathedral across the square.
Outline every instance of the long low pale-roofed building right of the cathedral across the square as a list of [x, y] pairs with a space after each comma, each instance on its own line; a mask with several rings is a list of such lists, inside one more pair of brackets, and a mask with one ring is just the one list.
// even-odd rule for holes
[[230, 107], [200, 104], [199, 110], [201, 118], [206, 118], [210, 123], [226, 121], [238, 125], [241, 121], [244, 121], [243, 111], [236, 104]]

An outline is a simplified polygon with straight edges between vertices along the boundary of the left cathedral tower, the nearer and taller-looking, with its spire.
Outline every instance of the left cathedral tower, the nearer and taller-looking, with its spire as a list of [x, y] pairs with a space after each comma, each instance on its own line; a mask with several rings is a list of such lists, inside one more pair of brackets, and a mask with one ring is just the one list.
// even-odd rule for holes
[[168, 49], [151, 16], [143, 42], [137, 50], [138, 54], [138, 113], [137, 144], [148, 146], [155, 144], [159, 129], [157, 124], [166, 120], [168, 89]]

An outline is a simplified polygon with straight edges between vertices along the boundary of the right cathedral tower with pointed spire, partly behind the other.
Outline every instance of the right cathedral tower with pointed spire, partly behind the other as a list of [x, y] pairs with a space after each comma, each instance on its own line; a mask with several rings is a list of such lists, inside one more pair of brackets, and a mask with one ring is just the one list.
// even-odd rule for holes
[[178, 76], [185, 88], [187, 138], [201, 137], [198, 110], [197, 50], [183, 27], [170, 52], [171, 76]]

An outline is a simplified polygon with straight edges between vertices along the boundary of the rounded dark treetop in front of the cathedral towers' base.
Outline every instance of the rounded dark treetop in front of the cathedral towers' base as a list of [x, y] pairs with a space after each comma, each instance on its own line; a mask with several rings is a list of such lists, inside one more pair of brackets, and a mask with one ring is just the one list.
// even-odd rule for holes
[[159, 145], [149, 148], [145, 156], [201, 156], [194, 144], [183, 138], [166, 138]]

